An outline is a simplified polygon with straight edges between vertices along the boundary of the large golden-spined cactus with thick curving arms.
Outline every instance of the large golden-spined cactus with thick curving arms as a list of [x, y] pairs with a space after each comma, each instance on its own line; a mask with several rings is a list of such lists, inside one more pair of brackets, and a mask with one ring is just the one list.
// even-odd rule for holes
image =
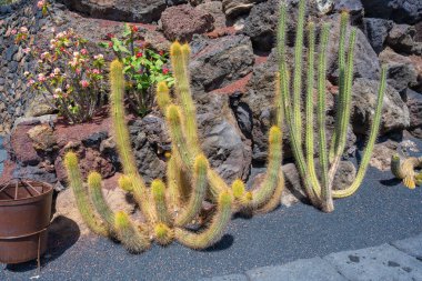
[[[157, 102], [167, 120], [172, 150], [168, 157], [165, 182], [154, 180], [150, 187], [137, 169], [124, 119], [123, 66], [119, 61], [110, 66], [110, 114], [124, 174], [119, 179], [119, 185], [133, 194], [142, 222], [133, 221], [129, 213], [110, 209], [97, 172], [89, 174], [88, 184], [83, 183], [76, 153], [68, 152], [64, 161], [87, 225], [98, 234], [121, 241], [131, 252], [144, 251], [152, 241], [167, 245], [173, 240], [192, 249], [205, 249], [221, 239], [233, 213], [262, 213], [275, 209], [284, 187], [281, 106], [277, 108], [278, 119], [269, 132], [270, 153], [264, 180], [250, 191], [241, 180], [228, 185], [210, 167], [200, 145], [189, 81], [189, 46], [173, 43], [170, 57], [175, 80], [174, 94], [165, 82], [161, 82], [157, 87]], [[280, 94], [275, 94], [278, 101]], [[205, 209], [204, 201], [212, 203], [214, 209]]]

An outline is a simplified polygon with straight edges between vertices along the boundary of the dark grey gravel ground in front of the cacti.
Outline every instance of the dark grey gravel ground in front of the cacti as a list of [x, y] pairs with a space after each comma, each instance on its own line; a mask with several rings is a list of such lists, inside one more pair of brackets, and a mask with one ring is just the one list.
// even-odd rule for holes
[[[298, 203], [252, 219], [234, 219], [222, 242], [208, 251], [173, 243], [132, 255], [107, 239], [74, 244], [67, 239], [59, 241], [63, 249], [44, 259], [38, 280], [197, 280], [379, 245], [419, 233], [422, 188], [409, 190], [389, 172], [371, 168], [356, 194], [335, 201], [333, 213]], [[36, 263], [31, 262], [8, 267], [0, 272], [0, 280], [34, 275]]]

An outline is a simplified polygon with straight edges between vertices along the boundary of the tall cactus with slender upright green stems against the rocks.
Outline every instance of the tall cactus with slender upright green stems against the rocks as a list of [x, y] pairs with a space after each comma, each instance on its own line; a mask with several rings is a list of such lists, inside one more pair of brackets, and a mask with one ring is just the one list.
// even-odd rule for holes
[[[325, 132], [325, 77], [326, 77], [326, 50], [329, 42], [328, 23], [322, 24], [319, 39], [318, 59], [314, 58], [315, 52], [315, 24], [309, 22], [308, 31], [308, 58], [307, 58], [307, 83], [303, 87], [303, 38], [305, 26], [305, 1], [299, 1], [299, 18], [297, 26], [295, 46], [294, 46], [294, 69], [292, 86], [290, 82], [291, 70], [285, 62], [285, 27], [287, 27], [287, 4], [282, 3], [280, 8], [280, 21], [278, 29], [278, 56], [279, 56], [279, 78], [281, 88], [281, 101], [285, 113], [285, 123], [290, 131], [290, 143], [293, 155], [298, 165], [299, 173], [304, 184], [305, 192], [312, 202], [321, 210], [331, 212], [334, 209], [333, 198], [344, 198], [353, 194], [362, 183], [368, 164], [371, 159], [373, 147], [379, 132], [381, 122], [381, 111], [383, 106], [383, 97], [385, 90], [385, 67], [382, 68], [381, 82], [378, 92], [378, 101], [374, 110], [366, 148], [363, 151], [360, 168], [353, 183], [344, 190], [333, 190], [334, 175], [339, 169], [342, 154], [345, 149], [348, 126], [351, 116], [351, 97], [353, 82], [353, 52], [356, 38], [356, 29], [350, 30], [348, 51], [346, 51], [346, 33], [349, 13], [341, 13], [340, 22], [340, 42], [339, 42], [339, 69], [340, 84], [339, 97], [336, 101], [335, 129], [328, 145]], [[316, 67], [314, 66], [316, 61]], [[316, 123], [314, 123], [314, 69], [316, 68]], [[292, 92], [290, 89], [292, 88]], [[304, 89], [305, 88], [305, 89]], [[302, 120], [301, 93], [305, 91], [304, 120]], [[303, 122], [304, 121], [304, 122]], [[304, 138], [302, 136], [302, 123], [304, 123]], [[321, 177], [315, 172], [314, 164], [314, 136], [313, 130], [319, 131], [319, 161], [321, 165]], [[304, 141], [303, 141], [304, 139]], [[304, 143], [303, 143], [304, 142]]]

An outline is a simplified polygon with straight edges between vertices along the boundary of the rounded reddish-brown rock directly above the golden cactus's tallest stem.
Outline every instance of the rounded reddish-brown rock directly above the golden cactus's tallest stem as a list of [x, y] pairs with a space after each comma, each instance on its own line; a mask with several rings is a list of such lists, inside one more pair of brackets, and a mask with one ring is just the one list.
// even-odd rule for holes
[[214, 18], [210, 13], [189, 4], [168, 8], [161, 14], [161, 22], [165, 38], [171, 41], [190, 41], [193, 34], [202, 34], [214, 28]]

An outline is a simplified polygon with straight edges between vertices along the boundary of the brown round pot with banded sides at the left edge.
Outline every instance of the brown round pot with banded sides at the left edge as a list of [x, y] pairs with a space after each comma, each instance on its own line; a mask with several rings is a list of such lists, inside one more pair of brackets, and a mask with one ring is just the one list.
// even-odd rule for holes
[[0, 185], [0, 262], [39, 261], [47, 251], [52, 191], [32, 180]]

